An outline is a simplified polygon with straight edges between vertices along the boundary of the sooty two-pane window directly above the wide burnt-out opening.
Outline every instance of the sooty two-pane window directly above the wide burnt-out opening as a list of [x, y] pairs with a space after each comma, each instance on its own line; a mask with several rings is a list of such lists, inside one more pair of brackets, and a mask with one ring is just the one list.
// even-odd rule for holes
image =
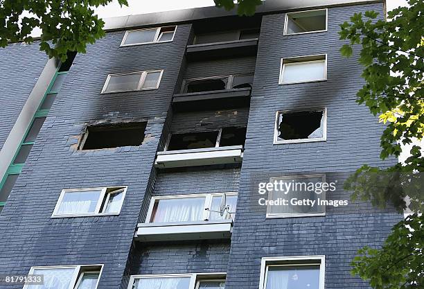
[[162, 73], [162, 70], [157, 70], [109, 74], [102, 93], [157, 89]]

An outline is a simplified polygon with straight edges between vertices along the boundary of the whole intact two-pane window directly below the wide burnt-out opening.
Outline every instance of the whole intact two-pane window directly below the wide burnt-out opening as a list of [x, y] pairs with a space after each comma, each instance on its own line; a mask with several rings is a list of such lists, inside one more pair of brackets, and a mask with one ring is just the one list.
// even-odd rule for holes
[[125, 197], [126, 186], [97, 189], [69, 189], [60, 193], [53, 216], [96, 216], [118, 214]]

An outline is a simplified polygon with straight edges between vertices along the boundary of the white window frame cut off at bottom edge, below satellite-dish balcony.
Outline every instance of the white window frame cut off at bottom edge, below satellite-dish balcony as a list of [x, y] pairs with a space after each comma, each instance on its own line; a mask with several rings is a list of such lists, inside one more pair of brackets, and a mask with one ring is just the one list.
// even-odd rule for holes
[[[197, 289], [199, 281], [206, 281], [213, 278], [225, 280], [227, 273], [224, 272], [214, 272], [214, 273], [187, 273], [187, 274], [140, 274], [140, 275], [131, 275], [130, 281], [128, 282], [128, 288], [132, 289], [135, 279], [148, 279], [148, 278], [184, 278], [190, 277], [190, 285], [188, 289]], [[202, 278], [202, 279], [199, 279]], [[207, 278], [207, 279], [203, 279]], [[215, 280], [215, 279], [213, 279]]]

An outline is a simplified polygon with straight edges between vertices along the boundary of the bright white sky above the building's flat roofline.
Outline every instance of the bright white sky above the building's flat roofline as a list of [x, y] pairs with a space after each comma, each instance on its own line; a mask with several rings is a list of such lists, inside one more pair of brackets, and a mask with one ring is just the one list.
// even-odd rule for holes
[[[284, 0], [280, 0], [284, 1]], [[387, 10], [405, 6], [406, 0], [386, 0]], [[105, 7], [96, 10], [101, 18], [136, 15], [159, 11], [179, 10], [186, 8], [214, 6], [213, 0], [128, 0], [128, 6], [119, 6], [114, 0]]]

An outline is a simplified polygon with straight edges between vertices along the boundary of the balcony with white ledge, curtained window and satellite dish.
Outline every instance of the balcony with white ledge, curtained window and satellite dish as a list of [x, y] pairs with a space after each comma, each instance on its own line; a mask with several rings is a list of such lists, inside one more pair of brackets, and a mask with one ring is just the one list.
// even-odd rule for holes
[[208, 240], [231, 238], [237, 193], [152, 197], [145, 223], [135, 240]]

